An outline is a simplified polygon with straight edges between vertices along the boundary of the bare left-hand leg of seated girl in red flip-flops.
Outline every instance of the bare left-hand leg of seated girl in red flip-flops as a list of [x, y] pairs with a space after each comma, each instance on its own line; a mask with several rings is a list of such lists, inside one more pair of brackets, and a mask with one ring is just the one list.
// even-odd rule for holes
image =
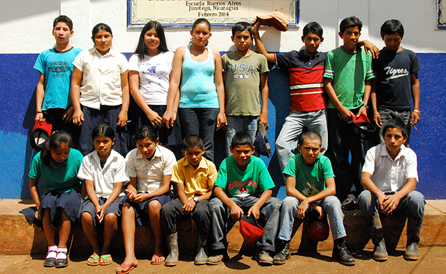
[[124, 203], [122, 205], [122, 234], [124, 236], [124, 247], [126, 248], [126, 259], [118, 266], [117, 272], [128, 271], [132, 267], [138, 265], [137, 258], [134, 256], [134, 231], [135, 231], [135, 221], [134, 221], [134, 210], [130, 203]]

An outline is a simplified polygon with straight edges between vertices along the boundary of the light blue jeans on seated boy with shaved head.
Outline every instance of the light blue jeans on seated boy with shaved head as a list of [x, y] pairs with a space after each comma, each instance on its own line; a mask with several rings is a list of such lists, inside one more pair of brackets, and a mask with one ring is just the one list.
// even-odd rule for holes
[[[341, 203], [338, 198], [334, 196], [325, 197], [316, 202], [321, 206], [328, 214], [330, 221], [331, 234], [333, 234], [333, 240], [347, 236], [345, 233], [344, 223], [342, 220]], [[281, 224], [279, 231], [280, 240], [291, 240], [291, 233], [293, 230], [294, 219], [296, 218], [297, 208], [301, 204], [301, 201], [295, 197], [286, 197], [282, 202], [281, 207]], [[314, 208], [309, 206], [307, 212], [313, 211]]]

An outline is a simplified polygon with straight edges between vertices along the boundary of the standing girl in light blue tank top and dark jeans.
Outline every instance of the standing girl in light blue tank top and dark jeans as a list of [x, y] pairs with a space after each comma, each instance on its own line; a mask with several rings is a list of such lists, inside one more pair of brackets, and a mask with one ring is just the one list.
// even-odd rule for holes
[[211, 24], [207, 19], [198, 18], [193, 23], [191, 36], [187, 47], [175, 51], [163, 120], [167, 127], [174, 125], [175, 100], [180, 88], [181, 134], [184, 138], [191, 134], [200, 136], [206, 148], [204, 157], [213, 161], [215, 125], [217, 129], [226, 126], [222, 58], [220, 52], [207, 48], [211, 37]]

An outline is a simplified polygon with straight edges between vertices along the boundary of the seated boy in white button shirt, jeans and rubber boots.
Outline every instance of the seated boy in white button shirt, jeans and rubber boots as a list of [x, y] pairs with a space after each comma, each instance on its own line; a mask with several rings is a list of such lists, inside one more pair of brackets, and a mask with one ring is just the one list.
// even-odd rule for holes
[[387, 260], [379, 212], [408, 216], [408, 242], [404, 258], [418, 260], [418, 243], [424, 216], [424, 196], [415, 191], [418, 182], [416, 154], [403, 146], [408, 134], [401, 119], [392, 119], [383, 127], [384, 144], [367, 151], [362, 169], [360, 208], [371, 230], [375, 250], [373, 260]]

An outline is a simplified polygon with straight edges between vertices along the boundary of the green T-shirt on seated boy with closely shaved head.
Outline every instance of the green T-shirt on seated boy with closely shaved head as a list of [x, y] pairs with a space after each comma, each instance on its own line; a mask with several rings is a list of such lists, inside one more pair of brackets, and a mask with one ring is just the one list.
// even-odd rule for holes
[[314, 166], [305, 164], [302, 153], [293, 156], [288, 162], [284, 175], [296, 178], [296, 190], [306, 197], [311, 197], [325, 189], [325, 179], [334, 177], [329, 158], [318, 155]]

